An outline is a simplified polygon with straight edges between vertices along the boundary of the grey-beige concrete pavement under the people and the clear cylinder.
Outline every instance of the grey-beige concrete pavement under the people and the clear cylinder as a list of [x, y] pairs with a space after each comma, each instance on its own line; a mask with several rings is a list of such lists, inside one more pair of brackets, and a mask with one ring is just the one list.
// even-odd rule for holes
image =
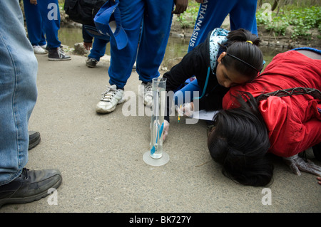
[[[164, 150], [170, 161], [143, 162], [150, 149], [148, 116], [124, 116], [122, 105], [108, 115], [95, 110], [108, 85], [108, 61], [87, 68], [85, 57], [39, 60], [39, 97], [29, 130], [41, 143], [29, 152], [29, 169], [60, 169], [63, 183], [49, 197], [3, 206], [0, 212], [320, 212], [316, 176], [292, 174], [280, 162], [267, 188], [242, 186], [223, 176], [206, 145], [206, 123], [186, 125], [172, 117]], [[133, 72], [126, 90], [137, 95]], [[310, 153], [309, 153], [310, 154]], [[312, 153], [312, 161], [317, 162]], [[267, 204], [271, 201], [271, 204]]]

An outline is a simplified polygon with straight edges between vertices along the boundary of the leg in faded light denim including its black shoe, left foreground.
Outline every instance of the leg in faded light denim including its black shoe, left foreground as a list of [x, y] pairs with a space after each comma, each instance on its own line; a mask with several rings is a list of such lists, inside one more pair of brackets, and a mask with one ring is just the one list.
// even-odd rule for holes
[[48, 196], [57, 169], [29, 170], [28, 122], [36, 103], [38, 63], [26, 38], [18, 0], [0, 1], [0, 208]]

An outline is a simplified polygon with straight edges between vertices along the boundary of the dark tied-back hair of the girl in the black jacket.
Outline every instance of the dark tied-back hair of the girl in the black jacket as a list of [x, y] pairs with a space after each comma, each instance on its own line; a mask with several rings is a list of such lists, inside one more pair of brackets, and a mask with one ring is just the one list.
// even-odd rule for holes
[[222, 46], [227, 55], [222, 59], [225, 68], [234, 68], [253, 80], [263, 68], [263, 53], [260, 38], [240, 28], [228, 33], [228, 41]]

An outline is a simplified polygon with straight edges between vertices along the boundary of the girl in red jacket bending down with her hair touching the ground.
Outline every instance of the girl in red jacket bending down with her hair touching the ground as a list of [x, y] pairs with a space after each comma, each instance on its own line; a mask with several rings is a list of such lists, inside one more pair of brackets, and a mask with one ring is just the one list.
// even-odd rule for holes
[[310, 147], [320, 154], [320, 59], [317, 50], [280, 53], [251, 83], [230, 88], [208, 136], [210, 154], [225, 175], [240, 184], [269, 184], [270, 152], [296, 174], [300, 169], [321, 176], [321, 167], [297, 155]]

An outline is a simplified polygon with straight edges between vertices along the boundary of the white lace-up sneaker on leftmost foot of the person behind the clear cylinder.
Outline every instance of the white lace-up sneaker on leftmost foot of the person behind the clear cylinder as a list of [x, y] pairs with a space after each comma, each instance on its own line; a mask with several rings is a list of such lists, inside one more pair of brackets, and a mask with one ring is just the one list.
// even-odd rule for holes
[[108, 113], [115, 110], [117, 104], [126, 101], [123, 90], [117, 89], [116, 85], [107, 86], [107, 90], [102, 94], [101, 100], [96, 105], [96, 112]]

